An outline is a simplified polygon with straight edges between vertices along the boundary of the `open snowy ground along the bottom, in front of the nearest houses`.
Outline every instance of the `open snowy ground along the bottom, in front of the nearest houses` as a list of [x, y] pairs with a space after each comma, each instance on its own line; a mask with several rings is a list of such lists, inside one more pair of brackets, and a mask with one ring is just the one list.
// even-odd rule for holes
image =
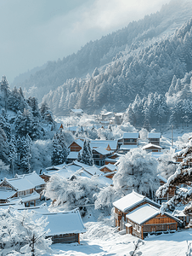
[[[88, 231], [81, 236], [80, 245], [54, 244], [54, 255], [129, 256], [134, 248], [133, 241], [138, 241], [137, 237], [114, 232], [114, 228], [103, 222], [89, 222], [86, 228]], [[144, 244], [139, 246], [137, 252], [141, 252], [140, 255], [143, 256], [183, 256], [188, 250], [187, 241], [192, 242], [192, 230], [150, 236], [145, 238]]]

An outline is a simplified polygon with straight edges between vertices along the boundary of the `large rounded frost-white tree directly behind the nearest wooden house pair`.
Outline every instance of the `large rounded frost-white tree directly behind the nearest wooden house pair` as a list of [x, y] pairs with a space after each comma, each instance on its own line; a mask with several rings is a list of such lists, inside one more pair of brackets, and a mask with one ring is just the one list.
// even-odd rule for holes
[[120, 158], [118, 172], [113, 177], [114, 188], [127, 192], [134, 189], [140, 194], [153, 197], [159, 187], [157, 165], [157, 160], [144, 150], [130, 150]]

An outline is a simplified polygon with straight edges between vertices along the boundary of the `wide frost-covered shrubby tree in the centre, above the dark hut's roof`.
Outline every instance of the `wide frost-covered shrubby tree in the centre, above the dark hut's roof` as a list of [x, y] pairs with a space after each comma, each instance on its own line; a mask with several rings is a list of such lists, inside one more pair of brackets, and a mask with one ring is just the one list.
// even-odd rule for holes
[[94, 203], [93, 195], [99, 190], [97, 177], [72, 176], [71, 179], [65, 179], [54, 175], [46, 185], [45, 196], [53, 201], [53, 207], [61, 207], [66, 211], [80, 207], [84, 216], [86, 205]]

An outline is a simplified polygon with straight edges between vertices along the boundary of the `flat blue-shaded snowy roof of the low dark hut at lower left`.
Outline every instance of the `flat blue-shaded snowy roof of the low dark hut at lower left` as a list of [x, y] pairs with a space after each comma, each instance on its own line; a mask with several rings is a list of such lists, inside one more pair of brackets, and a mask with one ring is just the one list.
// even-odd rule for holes
[[48, 236], [86, 232], [81, 215], [77, 209], [71, 212], [42, 213], [42, 216], [48, 218], [48, 225], [45, 228], [45, 230], [50, 230]]

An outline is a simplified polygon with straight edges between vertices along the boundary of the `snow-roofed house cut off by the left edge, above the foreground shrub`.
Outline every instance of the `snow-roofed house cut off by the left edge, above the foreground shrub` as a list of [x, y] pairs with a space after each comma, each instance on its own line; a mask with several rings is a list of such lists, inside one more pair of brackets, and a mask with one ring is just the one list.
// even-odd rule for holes
[[36, 201], [40, 199], [40, 195], [36, 192], [35, 186], [25, 175], [15, 178], [4, 178], [0, 183], [0, 203], [14, 202], [21, 199], [25, 203], [25, 207], [30, 203], [36, 205]]

